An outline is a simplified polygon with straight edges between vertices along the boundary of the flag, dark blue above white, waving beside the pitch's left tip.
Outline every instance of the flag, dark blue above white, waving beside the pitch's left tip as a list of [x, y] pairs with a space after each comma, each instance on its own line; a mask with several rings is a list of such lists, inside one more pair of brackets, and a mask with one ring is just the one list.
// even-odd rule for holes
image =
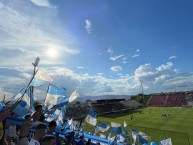
[[88, 111], [88, 114], [85, 118], [85, 121], [93, 126], [96, 126], [97, 123], [97, 114], [92, 109]]

